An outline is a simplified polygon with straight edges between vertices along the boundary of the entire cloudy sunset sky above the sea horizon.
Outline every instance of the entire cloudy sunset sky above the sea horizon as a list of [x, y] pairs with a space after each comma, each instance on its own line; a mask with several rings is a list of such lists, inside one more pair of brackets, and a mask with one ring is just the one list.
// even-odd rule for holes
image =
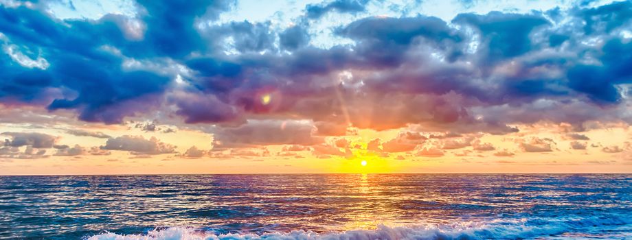
[[0, 48], [0, 175], [632, 172], [631, 1], [0, 0]]

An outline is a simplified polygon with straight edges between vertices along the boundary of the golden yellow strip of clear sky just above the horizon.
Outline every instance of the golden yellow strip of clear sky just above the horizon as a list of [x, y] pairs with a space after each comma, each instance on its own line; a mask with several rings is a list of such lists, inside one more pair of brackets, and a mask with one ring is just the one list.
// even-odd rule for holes
[[[277, 101], [278, 99], [275, 99]], [[272, 96], [270, 98], [272, 102]], [[75, 136], [60, 128], [47, 128], [37, 132], [57, 136], [58, 145], [79, 144], [87, 150], [100, 147], [107, 139], [90, 136]], [[166, 128], [166, 127], [163, 127]], [[161, 173], [588, 173], [626, 172], [632, 169], [632, 161], [625, 158], [626, 142], [632, 137], [627, 128], [589, 130], [583, 135], [590, 140], [586, 149], [571, 149], [572, 139], [566, 139], [554, 125], [519, 126], [519, 134], [485, 135], [479, 137], [482, 143], [491, 143], [493, 151], [475, 151], [472, 147], [441, 149], [442, 139], [427, 139], [425, 145], [441, 149], [444, 156], [420, 156], [416, 151], [380, 152], [368, 150], [368, 142], [381, 139], [390, 141], [403, 131], [358, 130], [350, 136], [335, 136], [326, 139], [326, 144], [334, 145], [336, 139], [345, 138], [348, 143], [338, 147], [341, 154], [317, 155], [313, 149], [284, 152], [286, 145], [267, 145], [253, 148], [258, 156], [234, 155], [225, 151], [224, 157], [208, 154], [199, 158], [180, 156], [191, 146], [201, 150], [211, 149], [213, 136], [207, 132], [188, 130], [177, 132], [144, 132], [133, 125], [83, 125], [82, 130], [103, 132], [112, 137], [132, 135], [155, 136], [163, 143], [176, 145], [172, 154], [139, 155], [128, 151], [111, 150], [106, 155], [83, 154], [79, 156], [58, 156], [56, 149], [47, 149], [47, 157], [41, 159], [0, 158], [0, 175], [32, 174], [161, 174]], [[35, 132], [28, 125], [5, 124], [0, 132]], [[525, 152], [519, 148], [519, 140], [531, 136], [554, 139], [556, 149], [552, 152]], [[604, 152], [604, 147], [618, 146], [623, 152]], [[260, 146], [257, 146], [260, 147]], [[495, 156], [496, 152], [507, 149], [515, 155]], [[25, 152], [21, 147], [19, 152]], [[213, 152], [217, 154], [217, 152]], [[632, 156], [632, 155], [630, 155]], [[596, 160], [598, 159], [598, 160]], [[362, 162], [365, 161], [366, 165]], [[370, 163], [370, 164], [369, 164]]]

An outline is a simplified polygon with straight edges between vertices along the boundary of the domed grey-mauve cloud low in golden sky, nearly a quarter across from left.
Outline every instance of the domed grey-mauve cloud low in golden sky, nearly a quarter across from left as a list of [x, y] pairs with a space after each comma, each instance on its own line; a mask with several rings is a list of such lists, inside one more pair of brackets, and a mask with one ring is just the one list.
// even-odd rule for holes
[[135, 155], [170, 154], [175, 151], [174, 145], [162, 143], [153, 136], [151, 139], [145, 139], [143, 136], [130, 135], [108, 139], [105, 145], [100, 148], [104, 150], [129, 151]]

